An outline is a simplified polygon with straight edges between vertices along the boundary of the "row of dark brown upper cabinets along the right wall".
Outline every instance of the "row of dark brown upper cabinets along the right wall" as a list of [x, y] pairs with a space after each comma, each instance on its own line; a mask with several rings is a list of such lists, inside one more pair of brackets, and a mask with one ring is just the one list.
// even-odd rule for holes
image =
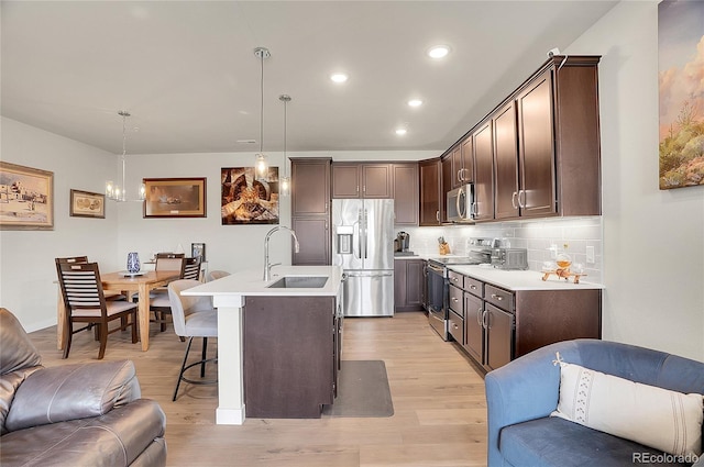
[[440, 198], [473, 181], [475, 221], [600, 215], [600, 58], [548, 59], [446, 153]]

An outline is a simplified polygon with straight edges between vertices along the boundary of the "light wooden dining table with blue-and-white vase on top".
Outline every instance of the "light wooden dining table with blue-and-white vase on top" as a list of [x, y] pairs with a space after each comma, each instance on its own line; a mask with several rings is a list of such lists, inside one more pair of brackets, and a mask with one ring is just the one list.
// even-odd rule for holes
[[[150, 291], [154, 288], [166, 286], [172, 280], [178, 279], [179, 276], [180, 271], [178, 270], [150, 270], [144, 271], [144, 274], [140, 276], [127, 277], [124, 276], [124, 271], [100, 275], [103, 290], [128, 293], [128, 296], [130, 296], [128, 299], [130, 299], [133, 293], [138, 294], [138, 320], [142, 351], [150, 348]], [[68, 337], [68, 330], [66, 329], [66, 309], [61, 294], [61, 287], [58, 288], [58, 305], [56, 307], [56, 340], [58, 349], [63, 351]]]

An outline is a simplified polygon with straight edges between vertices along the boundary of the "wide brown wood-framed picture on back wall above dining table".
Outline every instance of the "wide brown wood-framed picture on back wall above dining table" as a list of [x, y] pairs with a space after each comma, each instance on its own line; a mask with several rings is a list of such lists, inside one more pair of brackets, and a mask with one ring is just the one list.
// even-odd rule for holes
[[144, 218], [205, 218], [206, 178], [144, 178]]

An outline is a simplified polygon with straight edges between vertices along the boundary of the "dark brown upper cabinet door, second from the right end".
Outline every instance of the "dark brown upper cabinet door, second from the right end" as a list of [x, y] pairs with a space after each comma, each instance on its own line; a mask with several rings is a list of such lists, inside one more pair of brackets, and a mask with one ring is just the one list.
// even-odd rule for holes
[[508, 102], [499, 109], [494, 121], [494, 169], [496, 174], [495, 219], [518, 215], [518, 134], [516, 133], [516, 104]]

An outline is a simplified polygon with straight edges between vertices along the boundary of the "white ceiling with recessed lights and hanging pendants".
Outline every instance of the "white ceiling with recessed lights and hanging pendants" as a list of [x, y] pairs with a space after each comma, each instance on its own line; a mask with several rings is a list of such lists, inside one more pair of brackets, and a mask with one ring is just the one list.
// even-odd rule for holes
[[131, 154], [255, 152], [265, 46], [265, 152], [282, 93], [288, 152], [446, 149], [615, 3], [2, 0], [1, 113], [116, 154], [120, 110]]

